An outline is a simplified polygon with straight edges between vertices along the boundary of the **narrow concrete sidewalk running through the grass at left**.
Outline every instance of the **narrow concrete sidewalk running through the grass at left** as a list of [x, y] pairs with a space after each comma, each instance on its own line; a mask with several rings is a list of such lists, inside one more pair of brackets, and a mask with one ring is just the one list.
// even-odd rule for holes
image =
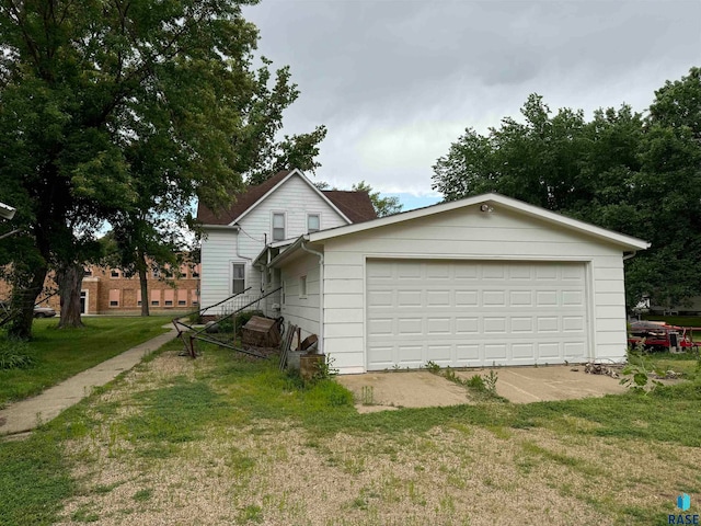
[[9, 404], [0, 410], [0, 436], [25, 433], [55, 419], [61, 411], [89, 396], [94, 387], [104, 386], [119, 374], [129, 370], [141, 362], [143, 356], [158, 350], [176, 335], [177, 331], [173, 329], [83, 370], [34, 398]]

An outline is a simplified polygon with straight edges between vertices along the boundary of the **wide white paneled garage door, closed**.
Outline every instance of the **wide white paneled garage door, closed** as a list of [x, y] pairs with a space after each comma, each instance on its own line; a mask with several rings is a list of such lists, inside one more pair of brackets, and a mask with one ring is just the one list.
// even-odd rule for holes
[[584, 263], [368, 260], [368, 370], [582, 362]]

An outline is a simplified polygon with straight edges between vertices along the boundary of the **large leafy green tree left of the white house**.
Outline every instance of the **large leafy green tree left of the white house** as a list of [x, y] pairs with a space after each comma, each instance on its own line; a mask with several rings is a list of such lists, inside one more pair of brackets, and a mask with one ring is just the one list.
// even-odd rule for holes
[[[0, 242], [23, 312], [13, 334], [31, 335], [48, 268], [77, 270], [103, 220], [128, 231], [194, 197], [223, 207], [268, 158], [261, 152], [297, 90], [287, 68], [274, 80], [269, 62], [252, 69], [248, 3], [0, 4], [0, 199], [16, 204], [23, 228], [12, 247]], [[315, 134], [272, 151], [313, 150]]]

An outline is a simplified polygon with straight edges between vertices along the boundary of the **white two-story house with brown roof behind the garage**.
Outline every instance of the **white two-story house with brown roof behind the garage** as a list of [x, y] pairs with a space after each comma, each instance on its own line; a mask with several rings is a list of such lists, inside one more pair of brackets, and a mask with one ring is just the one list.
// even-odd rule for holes
[[[200, 204], [197, 219], [205, 233], [202, 306], [245, 291], [238, 301], [218, 310], [232, 309], [277, 287], [279, 272], [268, 273], [265, 265], [253, 265], [261, 252], [272, 255], [302, 235], [376, 217], [367, 192], [320, 191], [298, 170], [278, 172], [263, 184], [250, 186], [222, 214], [214, 214]], [[255, 307], [278, 316], [279, 302], [276, 294]]]

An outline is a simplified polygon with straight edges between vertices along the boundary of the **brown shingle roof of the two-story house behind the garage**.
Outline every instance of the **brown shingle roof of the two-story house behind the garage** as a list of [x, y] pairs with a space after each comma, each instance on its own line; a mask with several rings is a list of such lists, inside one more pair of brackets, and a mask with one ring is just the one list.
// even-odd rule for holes
[[[228, 210], [217, 215], [205, 205], [197, 205], [197, 220], [204, 225], [229, 225], [245, 210], [252, 207], [273, 186], [285, 179], [291, 170], [277, 172], [264, 183], [249, 188], [237, 196], [237, 202]], [[342, 190], [324, 190], [322, 193], [338, 208], [352, 222], [361, 222], [375, 219], [377, 214], [367, 192], [347, 192]]]

